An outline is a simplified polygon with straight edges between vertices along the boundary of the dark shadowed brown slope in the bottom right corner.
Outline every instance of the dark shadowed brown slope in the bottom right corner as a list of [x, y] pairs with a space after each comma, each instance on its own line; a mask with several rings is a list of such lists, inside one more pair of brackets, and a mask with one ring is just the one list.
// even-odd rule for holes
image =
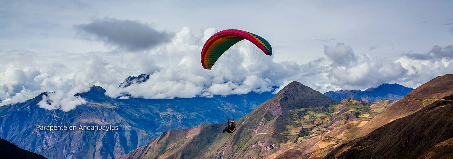
[[[448, 81], [443, 81], [448, 82]], [[432, 83], [428, 83], [432, 84]], [[445, 158], [452, 156], [453, 96], [333, 149], [326, 158]], [[389, 108], [390, 109], [390, 108]], [[423, 155], [423, 156], [422, 156]]]

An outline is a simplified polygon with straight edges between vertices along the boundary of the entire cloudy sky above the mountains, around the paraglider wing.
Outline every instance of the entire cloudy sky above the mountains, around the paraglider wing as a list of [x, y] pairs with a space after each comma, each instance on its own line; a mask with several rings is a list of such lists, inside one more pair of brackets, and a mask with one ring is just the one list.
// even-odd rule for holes
[[[291, 81], [321, 93], [415, 88], [453, 73], [451, 0], [0, 4], [0, 106], [48, 91], [41, 107], [69, 111], [92, 85], [157, 99], [275, 92]], [[204, 42], [224, 29], [260, 35], [272, 57], [243, 41], [203, 70]], [[151, 80], [118, 87], [139, 74]]]

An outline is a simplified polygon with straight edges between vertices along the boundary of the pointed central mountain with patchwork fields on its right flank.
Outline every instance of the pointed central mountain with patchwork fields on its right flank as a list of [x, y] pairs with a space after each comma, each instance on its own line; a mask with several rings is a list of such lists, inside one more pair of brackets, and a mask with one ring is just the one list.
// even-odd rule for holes
[[[350, 98], [334, 101], [299, 82], [291, 82], [236, 120], [238, 129], [232, 134], [220, 133], [226, 123], [169, 130], [125, 158], [294, 158], [301, 155], [287, 150], [313, 153], [331, 142], [336, 145], [392, 103], [370, 104]], [[300, 147], [294, 149], [296, 145]]]

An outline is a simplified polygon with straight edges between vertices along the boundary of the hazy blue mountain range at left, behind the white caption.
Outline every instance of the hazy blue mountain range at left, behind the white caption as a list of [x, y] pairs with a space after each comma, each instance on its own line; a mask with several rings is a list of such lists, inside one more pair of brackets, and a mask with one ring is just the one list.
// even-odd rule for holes
[[[0, 137], [47, 158], [119, 158], [169, 129], [190, 128], [242, 117], [270, 99], [270, 92], [244, 95], [114, 99], [94, 86], [77, 94], [87, 103], [71, 111], [39, 108], [44, 92], [0, 107]], [[36, 130], [36, 125], [113, 125], [119, 130]]]

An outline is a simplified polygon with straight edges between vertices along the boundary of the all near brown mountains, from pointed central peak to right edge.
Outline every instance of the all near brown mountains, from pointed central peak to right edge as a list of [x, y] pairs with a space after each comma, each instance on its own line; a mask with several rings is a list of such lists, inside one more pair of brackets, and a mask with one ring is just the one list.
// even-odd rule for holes
[[238, 119], [235, 133], [220, 133], [226, 123], [168, 130], [125, 158], [451, 158], [452, 100], [453, 75], [374, 103], [292, 82]]

